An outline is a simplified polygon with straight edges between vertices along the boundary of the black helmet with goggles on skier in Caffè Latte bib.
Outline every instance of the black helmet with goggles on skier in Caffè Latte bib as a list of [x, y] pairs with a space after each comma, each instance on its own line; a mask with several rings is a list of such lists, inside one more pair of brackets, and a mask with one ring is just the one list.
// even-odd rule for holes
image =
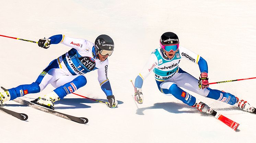
[[99, 54], [99, 53], [103, 52], [104, 50], [107, 50], [108, 52], [109, 51], [113, 51], [114, 50], [114, 46], [115, 46], [114, 45], [114, 41], [112, 40], [112, 38], [110, 38], [108, 35], [105, 35], [105, 34], [99, 35], [96, 38], [94, 44], [95, 44], [95, 52], [96, 52], [96, 54]]

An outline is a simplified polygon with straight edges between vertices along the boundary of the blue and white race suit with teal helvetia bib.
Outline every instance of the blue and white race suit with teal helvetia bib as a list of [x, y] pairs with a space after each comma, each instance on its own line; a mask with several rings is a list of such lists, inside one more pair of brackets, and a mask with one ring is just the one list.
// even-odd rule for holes
[[204, 97], [216, 99], [231, 105], [235, 104], [236, 98], [230, 93], [210, 88], [199, 89], [197, 78], [183, 71], [179, 67], [179, 62], [182, 58], [198, 64], [201, 72], [208, 73], [206, 60], [194, 52], [179, 46], [174, 57], [169, 59], [165, 55], [163, 49], [159, 47], [151, 53], [146, 65], [137, 76], [135, 80], [135, 87], [141, 88], [143, 81], [153, 71], [159, 90], [165, 95], [173, 95], [177, 99], [183, 101], [185, 104], [190, 106], [194, 105], [196, 98], [188, 94], [188, 92], [182, 90], [180, 87]]

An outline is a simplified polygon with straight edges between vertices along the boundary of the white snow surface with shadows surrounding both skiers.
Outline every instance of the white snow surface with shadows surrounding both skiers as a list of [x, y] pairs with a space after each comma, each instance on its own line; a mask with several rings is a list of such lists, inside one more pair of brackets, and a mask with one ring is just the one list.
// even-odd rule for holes
[[[56, 102], [56, 111], [87, 117], [81, 125], [14, 101], [4, 108], [25, 113], [21, 121], [0, 113], [1, 143], [64, 142], [254, 142], [256, 115], [189, 92], [224, 116], [240, 123], [235, 132], [214, 117], [199, 113], [173, 96], [163, 95], [151, 74], [144, 81], [144, 103], [133, 101], [135, 80], [166, 31], [175, 32], [181, 45], [208, 62], [209, 81], [255, 77], [256, 2], [254, 0], [1, 0], [0, 34], [38, 41], [55, 34], [94, 41], [108, 34], [115, 42], [108, 77], [118, 108], [110, 109], [76, 95]], [[69, 47], [48, 49], [35, 43], [0, 37], [0, 84], [12, 88], [34, 82], [49, 62]], [[198, 77], [197, 65], [182, 60], [180, 67]], [[76, 93], [106, 101], [97, 72], [86, 74], [88, 84]], [[256, 80], [210, 85], [256, 106]], [[54, 88], [22, 97], [32, 100]]]

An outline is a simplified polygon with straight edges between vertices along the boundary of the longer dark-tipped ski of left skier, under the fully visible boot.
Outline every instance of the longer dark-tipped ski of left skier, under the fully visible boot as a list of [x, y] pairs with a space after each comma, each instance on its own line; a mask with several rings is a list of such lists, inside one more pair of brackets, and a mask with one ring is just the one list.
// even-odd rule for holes
[[21, 104], [24, 104], [24, 105], [27, 105], [27, 106], [31, 106], [34, 109], [41, 110], [41, 111], [44, 111], [46, 113], [50, 113], [50, 114], [53, 114], [53, 115], [56, 115], [56, 116], [59, 116], [59, 117], [62, 117], [62, 118], [65, 118], [65, 119], [77, 122], [77, 123], [80, 123], [80, 124], [88, 123], [88, 119], [85, 118], [85, 117], [75, 117], [75, 116], [71, 116], [71, 115], [68, 115], [68, 114], [64, 114], [64, 113], [61, 113], [61, 112], [58, 112], [58, 111], [46, 108], [44, 106], [40, 106], [40, 105], [34, 104], [34, 103], [32, 103], [30, 101], [26, 101], [24, 99], [16, 98], [13, 101], [21, 103]]

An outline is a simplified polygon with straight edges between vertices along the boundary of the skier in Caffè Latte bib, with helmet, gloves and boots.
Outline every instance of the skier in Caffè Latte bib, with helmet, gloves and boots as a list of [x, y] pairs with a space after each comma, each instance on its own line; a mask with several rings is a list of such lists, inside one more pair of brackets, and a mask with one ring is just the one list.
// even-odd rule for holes
[[108, 56], [113, 53], [114, 42], [108, 35], [99, 35], [95, 43], [85, 39], [70, 38], [65, 35], [54, 35], [48, 39], [42, 38], [38, 46], [49, 48], [50, 44], [62, 43], [72, 47], [70, 51], [54, 59], [32, 84], [20, 85], [4, 89], [0, 92], [0, 106], [3, 102], [13, 100], [26, 94], [38, 93], [48, 84], [56, 89], [38, 97], [33, 103], [54, 109], [54, 102], [83, 87], [86, 83], [85, 74], [98, 70], [98, 82], [108, 99], [108, 106], [115, 108], [115, 99], [107, 77]]

